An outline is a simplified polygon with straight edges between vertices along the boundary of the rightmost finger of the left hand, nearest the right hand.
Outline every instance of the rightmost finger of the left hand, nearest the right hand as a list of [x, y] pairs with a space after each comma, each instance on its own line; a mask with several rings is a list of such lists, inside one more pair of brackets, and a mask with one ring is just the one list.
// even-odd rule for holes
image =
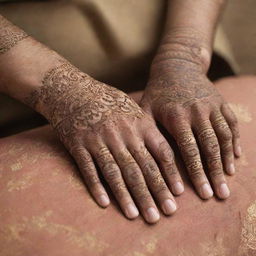
[[146, 147], [160, 164], [164, 178], [167, 180], [172, 193], [175, 195], [182, 194], [184, 192], [184, 185], [170, 145], [163, 135], [157, 131], [148, 133], [144, 139]]

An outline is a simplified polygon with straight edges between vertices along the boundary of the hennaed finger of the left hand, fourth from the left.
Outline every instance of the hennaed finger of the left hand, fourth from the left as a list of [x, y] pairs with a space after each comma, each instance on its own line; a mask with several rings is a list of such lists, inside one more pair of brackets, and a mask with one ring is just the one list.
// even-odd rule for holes
[[[142, 142], [133, 141], [133, 145], [128, 145], [128, 149], [140, 166], [147, 186], [163, 212], [167, 215], [173, 214], [177, 209], [175, 199], [145, 145]], [[159, 214], [153, 211], [154, 209], [152, 209], [152, 213], [157, 217]], [[148, 212], [150, 211], [148, 210]]]

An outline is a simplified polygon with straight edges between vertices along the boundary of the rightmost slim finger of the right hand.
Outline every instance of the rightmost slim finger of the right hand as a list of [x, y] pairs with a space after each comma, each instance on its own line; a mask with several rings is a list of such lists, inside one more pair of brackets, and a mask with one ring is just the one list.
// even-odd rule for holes
[[221, 111], [232, 132], [235, 156], [240, 157], [242, 155], [242, 150], [237, 118], [227, 103], [222, 105]]

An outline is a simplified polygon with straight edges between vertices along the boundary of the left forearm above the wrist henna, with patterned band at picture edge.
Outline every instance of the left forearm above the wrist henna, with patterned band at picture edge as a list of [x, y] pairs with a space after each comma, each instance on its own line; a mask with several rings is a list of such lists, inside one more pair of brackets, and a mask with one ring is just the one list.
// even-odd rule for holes
[[42, 87], [46, 74], [68, 63], [55, 51], [0, 16], [0, 91], [41, 112], [31, 94]]

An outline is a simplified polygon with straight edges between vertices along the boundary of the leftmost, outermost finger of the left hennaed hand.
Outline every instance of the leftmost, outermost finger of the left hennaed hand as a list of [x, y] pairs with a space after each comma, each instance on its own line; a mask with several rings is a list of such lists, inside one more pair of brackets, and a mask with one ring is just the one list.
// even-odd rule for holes
[[102, 207], [107, 207], [110, 204], [110, 200], [105, 188], [101, 184], [90, 153], [81, 146], [72, 151], [72, 156], [83, 175], [85, 184], [96, 202]]

